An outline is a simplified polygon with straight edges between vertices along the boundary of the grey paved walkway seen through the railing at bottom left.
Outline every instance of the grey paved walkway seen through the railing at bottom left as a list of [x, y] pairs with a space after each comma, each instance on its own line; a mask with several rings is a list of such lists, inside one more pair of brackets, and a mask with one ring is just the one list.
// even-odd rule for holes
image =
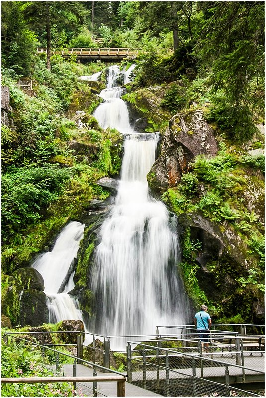
[[[64, 364], [64, 376], [73, 376], [73, 365]], [[77, 364], [77, 376], [93, 376], [93, 369], [88, 366]], [[112, 373], [97, 372], [98, 376], [111, 376]], [[82, 392], [85, 396], [93, 397], [93, 383], [77, 383], [77, 391]], [[117, 397], [117, 383], [115, 382], [98, 382], [97, 383], [98, 397]], [[90, 393], [90, 395], [88, 395]], [[126, 397], [162, 397], [159, 394], [144, 390], [141, 387], [134, 386], [126, 382]]]

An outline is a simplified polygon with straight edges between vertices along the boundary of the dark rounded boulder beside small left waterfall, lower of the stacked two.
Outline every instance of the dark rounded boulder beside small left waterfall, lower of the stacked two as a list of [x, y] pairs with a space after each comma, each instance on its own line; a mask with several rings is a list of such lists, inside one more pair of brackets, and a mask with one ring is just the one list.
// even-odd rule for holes
[[24, 290], [20, 301], [19, 323], [21, 326], [40, 326], [48, 322], [49, 311], [46, 294], [36, 289]]

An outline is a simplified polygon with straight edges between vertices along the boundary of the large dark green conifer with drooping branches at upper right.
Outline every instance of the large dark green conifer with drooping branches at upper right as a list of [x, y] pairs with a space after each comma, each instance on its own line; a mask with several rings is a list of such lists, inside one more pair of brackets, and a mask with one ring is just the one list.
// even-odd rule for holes
[[220, 118], [238, 139], [248, 139], [252, 111], [264, 106], [264, 2], [212, 1], [202, 11], [206, 22], [195, 49], [201, 68], [211, 71]]

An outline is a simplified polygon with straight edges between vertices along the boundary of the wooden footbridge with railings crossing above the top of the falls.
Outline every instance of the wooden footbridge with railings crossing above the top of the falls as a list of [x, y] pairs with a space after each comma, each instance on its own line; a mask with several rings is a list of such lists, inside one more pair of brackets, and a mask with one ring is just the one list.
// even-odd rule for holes
[[[64, 58], [76, 55], [77, 60], [102, 60], [102, 61], [122, 61], [123, 58], [135, 58], [140, 52], [140, 48], [64, 48], [51, 49], [51, 55], [60, 54]], [[157, 48], [157, 52], [173, 53], [173, 47]], [[47, 54], [46, 47], [37, 47], [37, 54]]]

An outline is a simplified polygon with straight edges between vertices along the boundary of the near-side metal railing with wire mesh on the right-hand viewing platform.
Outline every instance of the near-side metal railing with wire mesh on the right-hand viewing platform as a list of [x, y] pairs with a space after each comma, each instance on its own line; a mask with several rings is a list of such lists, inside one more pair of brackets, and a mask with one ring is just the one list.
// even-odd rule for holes
[[[193, 347], [181, 347], [181, 341], [176, 348], [162, 348], [163, 344], [169, 343], [169, 340], [128, 342], [128, 381], [164, 397], [260, 396], [232, 384], [250, 381], [264, 384], [264, 361], [261, 357], [257, 357], [259, 362], [256, 366], [255, 363], [252, 367], [243, 366], [228, 358], [213, 359], [211, 351], [208, 356], [193, 353]], [[174, 344], [173, 341], [171, 343]]]

